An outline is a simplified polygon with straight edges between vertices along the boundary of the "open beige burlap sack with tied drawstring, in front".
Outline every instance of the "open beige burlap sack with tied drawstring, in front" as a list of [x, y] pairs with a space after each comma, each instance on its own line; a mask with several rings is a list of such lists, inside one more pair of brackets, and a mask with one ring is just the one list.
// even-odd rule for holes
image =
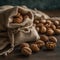
[[[18, 9], [23, 14], [28, 13], [30, 18], [26, 18], [24, 22], [17, 24], [17, 23], [11, 23], [12, 22], [12, 16], [17, 14]], [[30, 9], [26, 9], [20, 6], [2, 6], [0, 9], [0, 31], [4, 31], [7, 33], [7, 37], [9, 38], [7, 40], [7, 37], [5, 40], [2, 39], [1, 44], [3, 45], [2, 49], [4, 49], [9, 43], [11, 44], [11, 48], [3, 51], [0, 53], [0, 55], [7, 55], [7, 53], [10, 53], [14, 50], [14, 47], [19, 45], [22, 42], [27, 41], [34, 41], [38, 40], [40, 37], [33, 26], [33, 20], [34, 15]], [[3, 34], [4, 35], [4, 34]], [[6, 44], [4, 45], [4, 41]]]

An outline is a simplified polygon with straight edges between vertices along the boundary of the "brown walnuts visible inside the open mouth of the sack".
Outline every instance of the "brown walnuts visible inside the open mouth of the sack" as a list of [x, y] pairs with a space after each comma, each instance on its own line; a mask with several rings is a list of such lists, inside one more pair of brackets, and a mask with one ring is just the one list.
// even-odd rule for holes
[[30, 14], [22, 14], [20, 9], [18, 9], [18, 13], [12, 17], [12, 23], [22, 23], [26, 18], [30, 18], [29, 16]]

